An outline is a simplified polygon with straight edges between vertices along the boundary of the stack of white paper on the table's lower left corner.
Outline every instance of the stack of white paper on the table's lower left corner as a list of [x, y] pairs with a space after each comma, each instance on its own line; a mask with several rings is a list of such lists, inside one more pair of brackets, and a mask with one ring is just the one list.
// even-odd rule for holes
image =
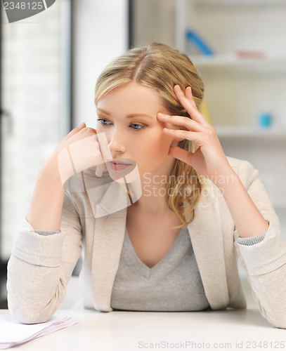
[[71, 317], [51, 317], [46, 323], [21, 324], [11, 315], [0, 314], [0, 349], [27, 343], [74, 324], [77, 324], [77, 321]]

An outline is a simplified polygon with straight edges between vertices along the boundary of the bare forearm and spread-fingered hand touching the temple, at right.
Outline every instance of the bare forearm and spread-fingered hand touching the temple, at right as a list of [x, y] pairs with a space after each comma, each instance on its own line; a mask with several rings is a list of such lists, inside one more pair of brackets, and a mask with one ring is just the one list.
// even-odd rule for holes
[[157, 118], [186, 128], [185, 130], [164, 128], [164, 131], [174, 138], [191, 140], [198, 145], [198, 148], [192, 153], [180, 147], [171, 146], [169, 155], [190, 164], [200, 176], [209, 178], [219, 187], [241, 237], [251, 237], [266, 232], [268, 223], [230, 166], [216, 135], [216, 129], [197, 110], [192, 89], [188, 86], [183, 93], [179, 86], [174, 86], [174, 92], [191, 118], [166, 114], [158, 114]]

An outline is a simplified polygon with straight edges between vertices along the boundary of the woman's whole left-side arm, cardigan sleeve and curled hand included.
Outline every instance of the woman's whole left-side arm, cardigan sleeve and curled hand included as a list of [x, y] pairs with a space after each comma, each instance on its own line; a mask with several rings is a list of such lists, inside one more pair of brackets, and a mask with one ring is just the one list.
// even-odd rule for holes
[[[72, 147], [74, 154], [79, 154], [78, 164]], [[27, 218], [15, 236], [8, 262], [8, 308], [22, 323], [46, 322], [51, 317], [65, 296], [82, 251], [77, 206], [63, 187], [66, 178], [60, 176], [70, 174], [58, 166], [61, 151], [70, 152], [72, 169], [77, 172], [103, 164], [96, 130], [82, 124], [63, 138], [42, 166]], [[55, 232], [42, 235], [37, 230]]]

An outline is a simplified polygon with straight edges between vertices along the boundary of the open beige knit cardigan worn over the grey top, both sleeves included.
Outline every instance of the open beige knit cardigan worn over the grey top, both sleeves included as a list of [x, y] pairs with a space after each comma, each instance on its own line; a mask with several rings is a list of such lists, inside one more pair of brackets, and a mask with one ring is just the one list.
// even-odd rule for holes
[[[239, 233], [226, 201], [216, 185], [205, 180], [206, 188], [188, 231], [207, 300], [213, 310], [246, 307], [238, 254], [261, 315], [273, 326], [286, 329], [286, 241], [278, 216], [252, 164], [232, 157], [228, 161], [269, 227], [263, 241], [252, 246], [238, 244]], [[93, 174], [94, 169], [89, 168], [86, 176], [92, 178]], [[37, 234], [23, 220], [15, 235], [8, 262], [8, 308], [20, 322], [45, 322], [51, 317], [65, 296], [82, 249], [84, 306], [112, 311], [110, 298], [122, 251], [126, 208], [95, 219], [86, 192], [70, 192], [71, 188], [72, 183], [65, 194], [60, 233]], [[101, 198], [97, 208], [103, 199], [116, 199], [112, 186]]]

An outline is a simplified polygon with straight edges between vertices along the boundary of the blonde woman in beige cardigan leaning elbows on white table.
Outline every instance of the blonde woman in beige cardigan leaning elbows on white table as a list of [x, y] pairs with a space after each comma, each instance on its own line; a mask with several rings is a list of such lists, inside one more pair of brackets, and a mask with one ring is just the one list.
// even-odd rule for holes
[[[192, 62], [164, 44], [133, 48], [104, 69], [96, 130], [74, 128], [48, 158], [15, 237], [8, 263], [15, 318], [51, 317], [82, 248], [86, 308], [245, 308], [238, 253], [262, 316], [286, 328], [286, 243], [278, 216], [258, 171], [224, 154], [200, 113], [203, 93]], [[99, 135], [108, 140], [111, 162]], [[71, 150], [78, 152], [70, 156], [78, 161], [74, 168], [60, 161]], [[122, 206], [106, 177], [126, 164], [138, 168], [141, 196]], [[106, 199], [118, 207], [108, 212], [101, 206]], [[94, 208], [107, 208], [106, 216]]]

